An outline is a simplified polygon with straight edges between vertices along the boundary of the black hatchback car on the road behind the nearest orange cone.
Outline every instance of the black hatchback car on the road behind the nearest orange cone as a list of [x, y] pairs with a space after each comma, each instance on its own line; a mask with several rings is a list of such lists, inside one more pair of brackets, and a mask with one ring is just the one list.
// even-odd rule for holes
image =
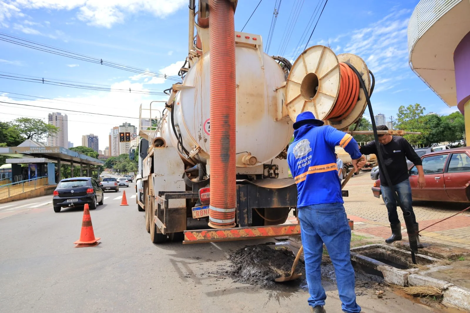
[[90, 210], [103, 204], [103, 191], [91, 177], [74, 177], [61, 180], [54, 190], [52, 205], [54, 212], [63, 207], [82, 206], [88, 203]]

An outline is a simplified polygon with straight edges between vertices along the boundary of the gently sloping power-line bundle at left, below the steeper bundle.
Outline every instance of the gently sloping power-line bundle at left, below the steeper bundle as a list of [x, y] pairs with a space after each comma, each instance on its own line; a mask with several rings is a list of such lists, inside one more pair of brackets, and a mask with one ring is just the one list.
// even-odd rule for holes
[[121, 92], [121, 93], [125, 92], [125, 93], [137, 93], [137, 94], [166, 95], [164, 92], [132, 90], [131, 88], [129, 88], [129, 89], [116, 89], [116, 88], [111, 88], [111, 86], [106, 86], [106, 85], [101, 85], [101, 86], [106, 86], [106, 87], [100, 87], [100, 86], [90, 85], [90, 84], [87, 84], [87, 83], [79, 83], [81, 85], [69, 84], [69, 83], [63, 83], [63, 82], [60, 82], [60, 81], [55, 81], [55, 79], [52, 80], [52, 79], [44, 79], [44, 78], [29, 78], [29, 77], [27, 77], [25, 75], [21, 75], [21, 74], [14, 74], [14, 75], [0, 74], [0, 78], [17, 80], [17, 81], [25, 81], [25, 82], [30, 82], [30, 83], [53, 85], [53, 86], [63, 86], [63, 87], [71, 87], [71, 88], [77, 88], [77, 89], [86, 89], [86, 90], [115, 91], [115, 92]]

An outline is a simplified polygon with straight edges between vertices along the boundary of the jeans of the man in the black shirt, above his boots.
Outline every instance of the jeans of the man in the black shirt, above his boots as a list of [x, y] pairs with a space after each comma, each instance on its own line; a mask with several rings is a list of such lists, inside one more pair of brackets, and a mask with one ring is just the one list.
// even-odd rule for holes
[[[402, 209], [405, 211], [410, 211], [411, 216], [413, 217], [413, 222], [416, 223], [415, 212], [413, 212], [411, 187], [409, 180], [404, 180], [394, 185], [393, 187], [395, 188], [395, 191], [398, 194]], [[382, 199], [384, 200], [385, 206], [387, 207], [388, 221], [392, 225], [398, 224], [400, 220], [398, 219], [397, 213], [397, 200], [393, 196], [392, 188], [380, 185], [380, 190], [382, 191]]]

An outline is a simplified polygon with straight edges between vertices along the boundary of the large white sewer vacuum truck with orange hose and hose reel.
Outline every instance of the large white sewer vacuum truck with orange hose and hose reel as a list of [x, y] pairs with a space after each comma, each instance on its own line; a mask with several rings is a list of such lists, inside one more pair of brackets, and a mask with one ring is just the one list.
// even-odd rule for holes
[[[287, 148], [299, 113], [337, 129], [366, 108], [357, 55], [307, 48], [291, 64], [235, 31], [235, 0], [189, 1], [188, 57], [164, 101], [141, 106], [137, 206], [153, 243], [202, 243], [299, 235]], [[195, 31], [196, 29], [196, 31]], [[153, 105], [153, 106], [152, 106]], [[163, 109], [163, 110], [162, 110]], [[192, 221], [202, 229], [188, 229]]]

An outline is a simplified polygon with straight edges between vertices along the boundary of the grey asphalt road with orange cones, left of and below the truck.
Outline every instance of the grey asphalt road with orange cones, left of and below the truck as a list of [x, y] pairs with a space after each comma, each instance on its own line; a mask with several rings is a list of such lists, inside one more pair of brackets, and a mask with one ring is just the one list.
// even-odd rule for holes
[[[266, 290], [213, 274], [229, 266], [231, 250], [261, 241], [152, 244], [134, 185], [105, 193], [90, 211], [102, 242], [93, 248], [73, 245], [83, 209], [55, 213], [52, 196], [0, 204], [0, 312], [309, 312], [305, 290]], [[124, 191], [128, 206], [119, 205]], [[367, 313], [435, 312], [392, 293], [358, 302]], [[327, 311], [340, 307], [337, 291], [328, 291]]]

